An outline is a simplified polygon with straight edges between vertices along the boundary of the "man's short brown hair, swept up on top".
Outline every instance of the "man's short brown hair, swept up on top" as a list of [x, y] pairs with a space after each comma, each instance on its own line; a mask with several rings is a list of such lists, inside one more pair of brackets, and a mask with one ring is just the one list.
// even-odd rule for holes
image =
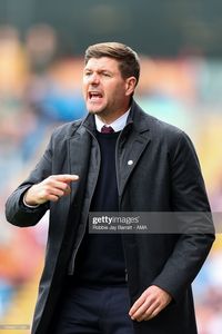
[[102, 42], [90, 46], [84, 53], [84, 63], [90, 58], [110, 57], [119, 62], [122, 77], [135, 77], [137, 84], [140, 78], [140, 60], [138, 53], [130, 47], [119, 42]]

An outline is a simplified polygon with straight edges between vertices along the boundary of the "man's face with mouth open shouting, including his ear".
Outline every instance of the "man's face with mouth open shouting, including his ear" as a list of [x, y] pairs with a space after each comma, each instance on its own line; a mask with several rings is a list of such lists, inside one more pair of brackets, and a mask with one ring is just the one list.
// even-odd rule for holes
[[89, 59], [83, 71], [83, 96], [89, 112], [107, 120], [115, 119], [129, 108], [134, 77], [123, 79], [115, 59]]

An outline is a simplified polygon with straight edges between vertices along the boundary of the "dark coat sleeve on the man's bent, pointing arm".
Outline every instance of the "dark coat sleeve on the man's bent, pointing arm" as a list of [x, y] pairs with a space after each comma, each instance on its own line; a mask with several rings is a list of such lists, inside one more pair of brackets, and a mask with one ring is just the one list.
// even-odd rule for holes
[[23, 194], [32, 185], [42, 181], [51, 175], [51, 164], [52, 139], [30, 176], [8, 198], [6, 203], [6, 217], [9, 223], [20, 227], [33, 226], [46, 214], [49, 203], [39, 205], [36, 208], [29, 208], [23, 205]]

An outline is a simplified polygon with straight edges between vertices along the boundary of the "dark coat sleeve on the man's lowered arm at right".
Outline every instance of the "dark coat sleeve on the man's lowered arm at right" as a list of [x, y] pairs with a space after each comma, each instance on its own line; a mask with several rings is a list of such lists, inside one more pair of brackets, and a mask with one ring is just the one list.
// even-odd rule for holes
[[[190, 138], [180, 132], [171, 151], [171, 198], [173, 212], [193, 213], [190, 229], [196, 217], [206, 233], [180, 234], [174, 249], [153, 284], [179, 299], [198, 275], [214, 240], [214, 227], [200, 164]], [[200, 216], [199, 214], [200, 213]], [[191, 215], [192, 217], [192, 215]], [[188, 224], [188, 222], [186, 222]]]

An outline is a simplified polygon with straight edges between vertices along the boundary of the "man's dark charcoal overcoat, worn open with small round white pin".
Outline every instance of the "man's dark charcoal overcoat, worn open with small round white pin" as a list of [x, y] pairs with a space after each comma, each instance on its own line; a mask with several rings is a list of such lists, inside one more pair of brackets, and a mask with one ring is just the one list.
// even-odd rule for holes
[[[36, 225], [50, 209], [46, 265], [32, 334], [49, 333], [63, 279], [73, 269], [85, 229], [100, 169], [94, 127], [93, 115], [88, 115], [57, 128], [34, 170], [7, 202], [7, 219], [22, 227]], [[115, 166], [121, 212], [210, 212], [191, 140], [182, 130], [143, 112], [134, 101], [118, 139]], [[56, 174], [80, 176], [79, 181], [72, 183], [71, 195], [26, 208], [21, 200], [26, 189]], [[212, 227], [209, 216], [204, 224]], [[196, 333], [191, 283], [213, 239], [213, 228], [212, 234], [122, 234], [131, 302], [152, 284], [173, 296], [173, 302], [155, 318], [134, 324], [137, 334]]]

